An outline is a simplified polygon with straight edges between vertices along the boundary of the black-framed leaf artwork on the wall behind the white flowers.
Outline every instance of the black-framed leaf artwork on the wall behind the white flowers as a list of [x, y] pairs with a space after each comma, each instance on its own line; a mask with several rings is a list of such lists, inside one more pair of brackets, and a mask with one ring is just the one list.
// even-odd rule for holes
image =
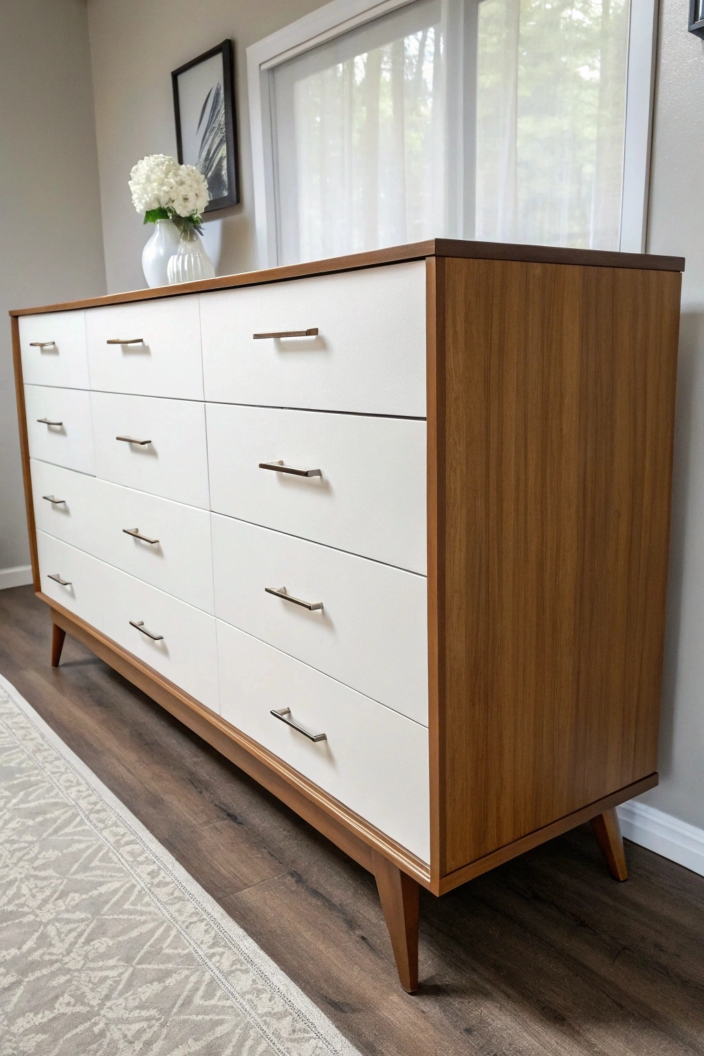
[[224, 40], [171, 74], [178, 162], [208, 181], [205, 212], [240, 201], [233, 71], [232, 41]]

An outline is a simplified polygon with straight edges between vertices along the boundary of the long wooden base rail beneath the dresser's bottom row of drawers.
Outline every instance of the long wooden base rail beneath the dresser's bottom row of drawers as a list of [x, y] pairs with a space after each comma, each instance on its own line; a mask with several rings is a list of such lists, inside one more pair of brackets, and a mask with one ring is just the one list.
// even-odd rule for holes
[[46, 595], [37, 597], [51, 608], [54, 624], [72, 638], [82, 642], [97, 657], [114, 667], [134, 685], [150, 696], [179, 721], [212, 744], [226, 758], [234, 762], [272, 792], [297, 814], [315, 826], [323, 835], [337, 844], [370, 872], [374, 871], [372, 851], [383, 854], [414, 880], [430, 887], [427, 866], [414, 854], [391, 840], [364, 818], [348, 810], [344, 804], [327, 795], [306, 777], [268, 752], [256, 741], [231, 725], [220, 715], [204, 708], [184, 690], [164, 678], [158, 672], [132, 656], [116, 642], [73, 612], [58, 606]]

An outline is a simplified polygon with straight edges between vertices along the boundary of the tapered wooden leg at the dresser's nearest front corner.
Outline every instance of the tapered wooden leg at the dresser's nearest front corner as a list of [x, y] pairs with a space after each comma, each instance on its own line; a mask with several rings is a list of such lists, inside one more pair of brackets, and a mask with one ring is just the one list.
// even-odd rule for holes
[[415, 880], [373, 851], [374, 875], [386, 927], [392, 940], [401, 986], [408, 994], [418, 989], [418, 894]]

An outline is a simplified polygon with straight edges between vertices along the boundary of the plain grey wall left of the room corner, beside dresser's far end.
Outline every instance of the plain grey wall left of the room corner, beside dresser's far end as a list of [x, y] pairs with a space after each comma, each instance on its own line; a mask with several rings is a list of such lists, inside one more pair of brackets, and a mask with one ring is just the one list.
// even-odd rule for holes
[[84, 0], [2, 0], [0, 99], [5, 569], [30, 561], [7, 310], [106, 291]]

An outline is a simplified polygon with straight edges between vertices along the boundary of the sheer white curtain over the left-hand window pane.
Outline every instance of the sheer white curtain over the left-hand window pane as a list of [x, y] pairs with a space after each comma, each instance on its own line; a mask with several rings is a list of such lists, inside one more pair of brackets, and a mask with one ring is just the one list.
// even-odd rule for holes
[[440, 2], [274, 72], [280, 261], [426, 239], [442, 222]]

